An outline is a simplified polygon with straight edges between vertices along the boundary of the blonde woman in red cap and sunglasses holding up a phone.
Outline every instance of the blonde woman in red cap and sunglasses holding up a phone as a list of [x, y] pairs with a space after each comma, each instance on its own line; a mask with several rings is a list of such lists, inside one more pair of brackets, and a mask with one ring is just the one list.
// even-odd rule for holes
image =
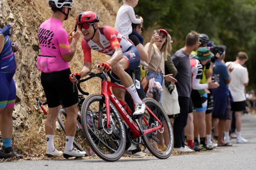
[[[163, 80], [176, 82], [172, 74], [164, 75], [164, 61], [167, 60], [167, 54], [171, 52], [171, 39], [167, 38], [168, 32], [164, 29], [159, 29], [150, 42], [145, 45], [145, 49], [149, 55], [149, 66], [145, 66], [147, 78], [151, 79], [155, 76], [155, 81], [159, 82], [163, 87]], [[162, 92], [160, 92], [159, 103], [162, 101]]]

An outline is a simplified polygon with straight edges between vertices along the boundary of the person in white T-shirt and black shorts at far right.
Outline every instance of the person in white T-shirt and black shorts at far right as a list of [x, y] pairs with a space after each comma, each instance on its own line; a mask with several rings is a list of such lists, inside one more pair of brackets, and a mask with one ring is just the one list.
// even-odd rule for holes
[[[231, 110], [232, 112], [235, 112], [237, 143], [248, 142], [241, 136], [241, 115], [242, 111], [246, 109], [245, 86], [247, 86], [249, 83], [248, 70], [243, 66], [247, 60], [247, 54], [245, 52], [239, 52], [235, 61], [226, 63], [227, 66], [230, 65], [234, 67], [233, 71], [230, 73], [231, 81], [228, 88], [234, 100], [234, 102], [231, 103]], [[228, 132], [225, 132], [224, 140], [226, 142], [230, 141]]]

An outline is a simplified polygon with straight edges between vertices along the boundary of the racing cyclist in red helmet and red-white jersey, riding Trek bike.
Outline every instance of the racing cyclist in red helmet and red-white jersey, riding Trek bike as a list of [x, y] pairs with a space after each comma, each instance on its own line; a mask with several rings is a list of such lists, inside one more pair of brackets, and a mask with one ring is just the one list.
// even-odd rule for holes
[[[143, 116], [146, 106], [140, 100], [131, 76], [126, 72], [139, 66], [139, 52], [129, 39], [114, 28], [107, 25], [98, 27], [99, 19], [99, 16], [93, 11], [81, 12], [77, 16], [76, 24], [84, 35], [82, 39], [84, 66], [79, 73], [71, 74], [70, 79], [76, 82], [75, 75], [85, 77], [92, 70], [91, 49], [109, 55], [111, 58], [108, 61], [98, 64], [99, 70], [107, 72], [110, 66], [112, 67], [111, 74], [115, 78], [120, 79], [124, 87], [131, 94], [135, 104], [133, 116], [135, 118]], [[113, 88], [112, 91], [118, 100], [124, 100], [125, 90]]]

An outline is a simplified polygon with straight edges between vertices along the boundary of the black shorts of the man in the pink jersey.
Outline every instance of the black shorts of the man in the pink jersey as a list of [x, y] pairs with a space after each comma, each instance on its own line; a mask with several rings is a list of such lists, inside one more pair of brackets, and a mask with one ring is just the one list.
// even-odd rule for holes
[[41, 83], [48, 107], [57, 107], [62, 103], [66, 108], [78, 103], [77, 87], [74, 86], [75, 92], [73, 92], [73, 83], [69, 79], [70, 74], [70, 68], [51, 73], [42, 72]]

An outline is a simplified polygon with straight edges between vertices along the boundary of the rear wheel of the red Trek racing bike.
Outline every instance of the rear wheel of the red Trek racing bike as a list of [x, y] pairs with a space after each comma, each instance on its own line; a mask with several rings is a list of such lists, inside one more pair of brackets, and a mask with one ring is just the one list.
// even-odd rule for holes
[[[143, 142], [151, 154], [156, 158], [167, 159], [172, 154], [174, 142], [171, 122], [162, 106], [157, 101], [151, 98], [145, 98], [143, 102], [164, 125], [162, 129], [143, 135]], [[143, 130], [154, 128], [160, 125], [159, 122], [152, 116], [149, 109], [146, 109], [144, 112], [144, 117], [146, 118], [146, 122], [149, 126], [146, 125], [143, 118], [140, 118], [139, 120]]]

